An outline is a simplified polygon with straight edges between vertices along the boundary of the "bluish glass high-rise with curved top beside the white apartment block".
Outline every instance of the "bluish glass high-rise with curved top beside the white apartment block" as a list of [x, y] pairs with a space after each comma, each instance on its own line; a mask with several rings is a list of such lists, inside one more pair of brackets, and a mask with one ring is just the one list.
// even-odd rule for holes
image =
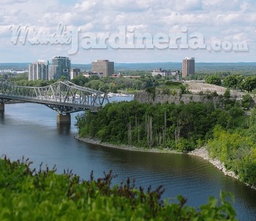
[[70, 79], [71, 61], [67, 57], [54, 56], [50, 60], [49, 65], [49, 80], [59, 80], [61, 76]]

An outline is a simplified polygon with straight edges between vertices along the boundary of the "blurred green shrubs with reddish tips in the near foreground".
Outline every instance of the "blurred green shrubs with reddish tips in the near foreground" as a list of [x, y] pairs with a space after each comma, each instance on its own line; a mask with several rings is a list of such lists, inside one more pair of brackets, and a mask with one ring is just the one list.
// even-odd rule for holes
[[129, 179], [111, 185], [111, 171], [82, 181], [54, 168], [31, 171], [29, 165], [0, 159], [0, 220], [236, 220], [227, 193], [195, 209], [182, 196], [162, 201], [162, 187], [145, 191]]

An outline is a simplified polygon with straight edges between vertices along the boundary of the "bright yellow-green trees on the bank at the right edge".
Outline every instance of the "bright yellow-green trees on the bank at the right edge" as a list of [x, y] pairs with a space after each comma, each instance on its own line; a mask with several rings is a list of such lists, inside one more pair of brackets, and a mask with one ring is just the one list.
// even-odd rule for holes
[[219, 158], [241, 181], [256, 186], [256, 107], [252, 109], [248, 128], [226, 131], [217, 125], [214, 138], [208, 141], [211, 157]]

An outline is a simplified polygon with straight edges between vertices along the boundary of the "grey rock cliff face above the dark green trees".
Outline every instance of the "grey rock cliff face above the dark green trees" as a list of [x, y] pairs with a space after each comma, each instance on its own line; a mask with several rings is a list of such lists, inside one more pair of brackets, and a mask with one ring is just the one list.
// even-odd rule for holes
[[222, 96], [207, 96], [207, 95], [197, 95], [197, 94], [182, 94], [181, 96], [176, 95], [168, 95], [162, 93], [161, 90], [156, 90], [154, 94], [148, 93], [146, 91], [136, 93], [135, 101], [139, 101], [140, 103], [151, 103], [151, 104], [164, 104], [164, 103], [174, 103], [174, 104], [188, 104], [189, 102], [213, 102], [214, 104], [222, 104]]

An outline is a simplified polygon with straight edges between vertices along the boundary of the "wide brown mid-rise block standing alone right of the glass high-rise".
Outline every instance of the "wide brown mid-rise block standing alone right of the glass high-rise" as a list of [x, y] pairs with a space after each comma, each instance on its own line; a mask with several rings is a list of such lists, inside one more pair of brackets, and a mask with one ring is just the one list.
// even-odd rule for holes
[[102, 73], [103, 77], [114, 74], [114, 63], [108, 60], [97, 60], [91, 63], [91, 71], [95, 73]]

